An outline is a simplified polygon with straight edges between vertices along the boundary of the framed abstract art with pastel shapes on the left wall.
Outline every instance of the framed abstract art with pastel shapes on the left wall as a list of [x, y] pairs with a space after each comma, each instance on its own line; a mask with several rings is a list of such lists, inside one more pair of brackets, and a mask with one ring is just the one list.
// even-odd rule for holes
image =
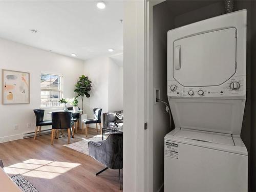
[[30, 103], [30, 73], [2, 70], [3, 104]]

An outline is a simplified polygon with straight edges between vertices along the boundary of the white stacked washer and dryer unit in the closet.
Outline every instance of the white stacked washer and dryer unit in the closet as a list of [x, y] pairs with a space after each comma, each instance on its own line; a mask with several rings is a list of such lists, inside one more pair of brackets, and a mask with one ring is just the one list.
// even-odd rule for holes
[[168, 31], [164, 191], [247, 191], [246, 10]]

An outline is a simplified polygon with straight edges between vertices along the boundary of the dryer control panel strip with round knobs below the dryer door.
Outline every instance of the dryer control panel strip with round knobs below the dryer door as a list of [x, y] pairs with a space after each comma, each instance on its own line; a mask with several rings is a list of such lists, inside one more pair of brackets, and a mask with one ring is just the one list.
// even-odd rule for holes
[[245, 76], [232, 77], [220, 86], [184, 87], [177, 81], [169, 80], [167, 94], [169, 97], [243, 97], [245, 96]]

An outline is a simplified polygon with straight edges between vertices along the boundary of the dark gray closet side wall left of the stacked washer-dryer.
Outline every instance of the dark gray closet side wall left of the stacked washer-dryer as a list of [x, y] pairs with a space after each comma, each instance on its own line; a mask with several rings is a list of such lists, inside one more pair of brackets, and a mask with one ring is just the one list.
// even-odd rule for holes
[[[164, 24], [164, 25], [163, 25]], [[174, 28], [168, 7], [153, 8], [153, 89], [159, 88], [160, 99], [167, 99], [167, 31]], [[162, 103], [153, 104], [153, 191], [163, 190], [164, 136], [170, 132], [169, 116]]]

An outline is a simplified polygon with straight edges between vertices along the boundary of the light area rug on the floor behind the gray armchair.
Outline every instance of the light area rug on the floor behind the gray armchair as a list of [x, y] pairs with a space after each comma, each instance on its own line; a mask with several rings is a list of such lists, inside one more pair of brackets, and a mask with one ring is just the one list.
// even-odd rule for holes
[[68, 145], [65, 145], [66, 147], [72, 148], [72, 150], [78, 151], [80, 153], [89, 155], [89, 147], [88, 143], [89, 141], [102, 141], [102, 135], [96, 135], [89, 139], [83, 139], [82, 141], [78, 141], [75, 143], [71, 143]]

